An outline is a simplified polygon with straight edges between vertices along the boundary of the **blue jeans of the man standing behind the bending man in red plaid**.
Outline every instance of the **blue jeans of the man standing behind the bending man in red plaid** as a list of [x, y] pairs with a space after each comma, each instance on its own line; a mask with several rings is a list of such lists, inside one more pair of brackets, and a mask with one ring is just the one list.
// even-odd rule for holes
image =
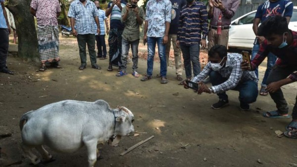
[[[252, 47], [252, 50], [251, 50], [251, 60], [253, 60], [255, 58], [255, 56], [257, 55], [258, 51], [260, 49], [260, 45], [259, 44], [254, 44], [254, 46]], [[264, 74], [264, 78], [263, 78], [263, 81], [261, 83], [261, 86], [263, 87], [266, 87], [267, 84], [267, 78], [268, 78], [268, 75], [272, 69], [272, 67], [274, 66], [275, 62], [276, 62], [276, 59], [277, 57], [272, 54], [271, 52], [268, 53], [268, 56], [267, 56], [267, 68], [266, 68], [266, 71], [265, 71], [265, 74]], [[258, 68], [255, 69], [255, 74], [258, 77]]]

